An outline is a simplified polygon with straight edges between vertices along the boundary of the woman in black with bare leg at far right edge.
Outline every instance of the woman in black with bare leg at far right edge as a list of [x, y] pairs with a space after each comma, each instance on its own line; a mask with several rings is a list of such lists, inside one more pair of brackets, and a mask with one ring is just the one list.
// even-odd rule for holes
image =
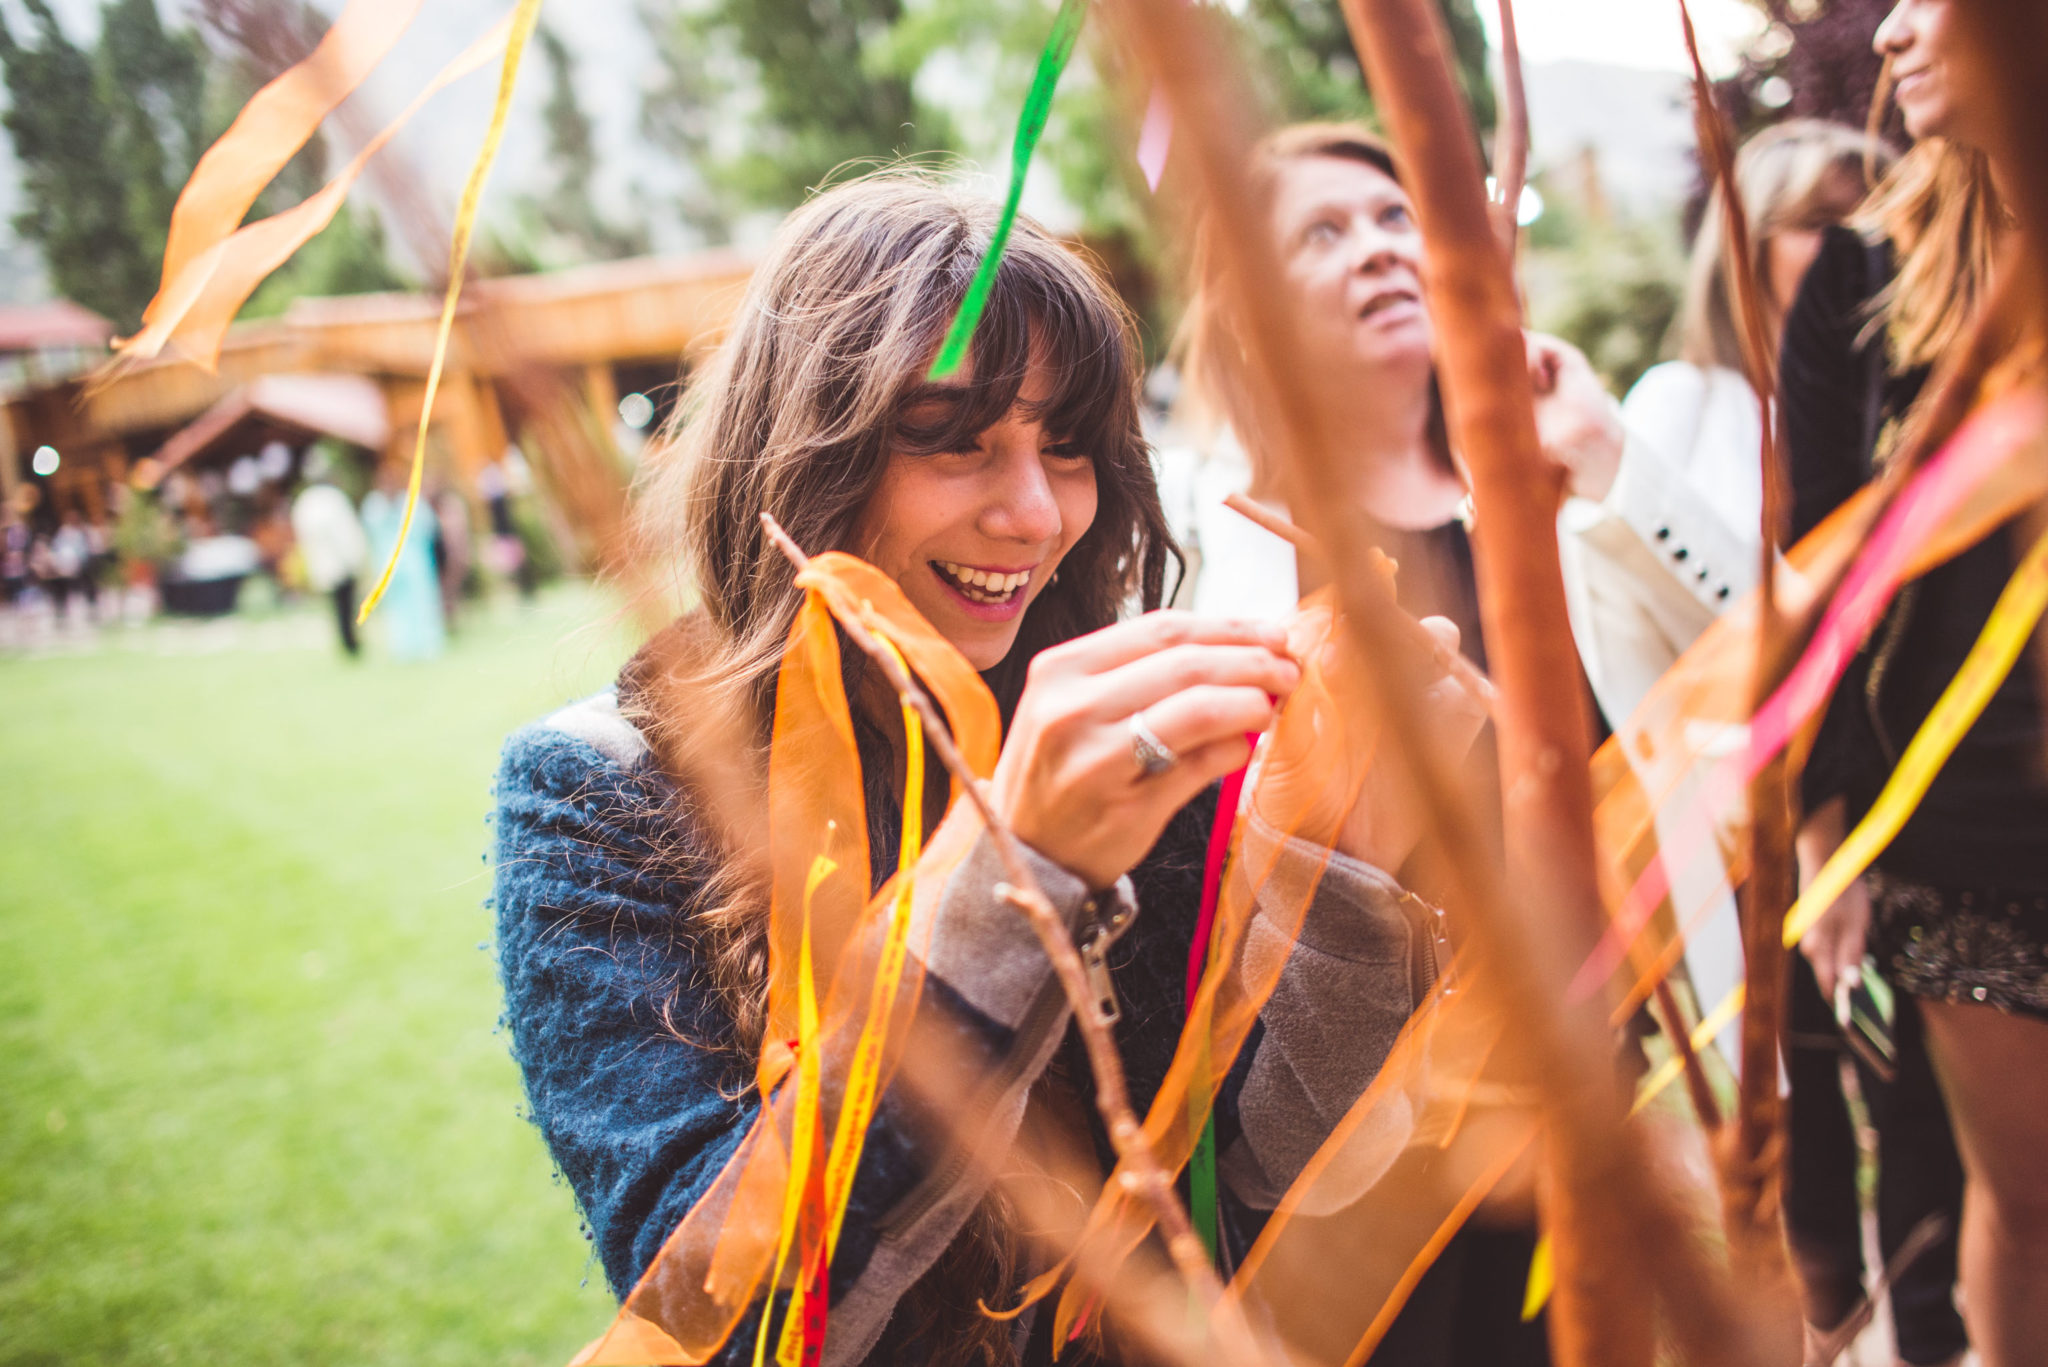
[[[1968, 336], [2009, 244], [1991, 86], [1960, 70], [1952, 12], [1950, 0], [1905, 0], [1878, 29], [1917, 143], [1858, 217], [1862, 232], [1827, 234], [1786, 322], [1794, 535], [1888, 459], [1894, 418]], [[1993, 533], [1907, 584], [1872, 631], [1806, 769], [1804, 875], [1870, 810], [2013, 557], [2011, 531]], [[1903, 994], [1898, 1033], [1925, 1029], [1966, 1174], [1962, 1291], [1985, 1367], [2036, 1363], [2048, 1344], [2048, 732], [2034, 660], [2021, 654], [1898, 836], [1802, 943], [1821, 994], [1853, 986], [1868, 957]], [[1933, 1183], [1929, 1090], [1901, 1058], [1898, 1084], [1874, 1107], [1884, 1174]], [[1880, 1180], [1886, 1246], [1911, 1213], [1888, 1209], [1894, 1195]], [[1907, 1361], [1960, 1351], [1960, 1338], [1915, 1344], [1905, 1332], [1901, 1322]]]

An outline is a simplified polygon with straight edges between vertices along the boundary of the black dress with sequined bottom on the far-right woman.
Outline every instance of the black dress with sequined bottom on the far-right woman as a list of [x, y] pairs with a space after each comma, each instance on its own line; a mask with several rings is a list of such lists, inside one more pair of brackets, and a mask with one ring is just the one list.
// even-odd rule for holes
[[[1786, 320], [1784, 416], [1794, 531], [1864, 484], [1882, 430], [1919, 389], [1858, 346], [1884, 252], [1835, 230]], [[1962, 666], [2015, 564], [2009, 529], [1907, 584], [1843, 678], [1815, 746], [1808, 810], [1870, 810]], [[1872, 865], [1872, 953], [1905, 992], [2048, 1019], [2048, 730], [2034, 650], [1964, 734]]]

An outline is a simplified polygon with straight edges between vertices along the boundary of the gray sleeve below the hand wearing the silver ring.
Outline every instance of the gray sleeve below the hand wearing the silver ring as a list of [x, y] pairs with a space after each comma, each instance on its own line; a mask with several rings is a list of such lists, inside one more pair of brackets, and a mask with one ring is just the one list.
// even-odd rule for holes
[[[1090, 894], [1081, 879], [1030, 846], [1024, 861], [1069, 926], [1096, 920], [1110, 900], [1124, 910], [1135, 908], [1128, 879], [1118, 879], [1108, 894]], [[1024, 912], [995, 896], [1001, 881], [1001, 859], [983, 834], [936, 902], [924, 959], [926, 971], [944, 980], [1010, 1041], [995, 1060], [985, 1099], [975, 1105], [989, 1117], [983, 1137], [995, 1150], [1016, 1135], [1030, 1084], [1053, 1060], [1069, 1014], [1038, 935]], [[911, 943], [920, 939], [913, 928]], [[985, 1191], [985, 1174], [973, 1164], [940, 1162], [889, 1211], [866, 1269], [831, 1308], [825, 1367], [850, 1367], [868, 1355], [897, 1301], [961, 1232]]]

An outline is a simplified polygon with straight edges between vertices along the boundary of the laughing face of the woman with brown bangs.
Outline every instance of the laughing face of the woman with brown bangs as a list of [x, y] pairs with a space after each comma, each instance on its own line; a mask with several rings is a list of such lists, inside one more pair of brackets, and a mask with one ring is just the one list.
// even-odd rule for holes
[[[1010, 412], [963, 449], [891, 451], [854, 527], [854, 551], [977, 670], [1010, 654], [1024, 609], [1096, 521], [1092, 453], [1036, 418], [1049, 393], [1034, 361]], [[942, 430], [961, 396], [958, 385], [930, 385], [901, 428]]]

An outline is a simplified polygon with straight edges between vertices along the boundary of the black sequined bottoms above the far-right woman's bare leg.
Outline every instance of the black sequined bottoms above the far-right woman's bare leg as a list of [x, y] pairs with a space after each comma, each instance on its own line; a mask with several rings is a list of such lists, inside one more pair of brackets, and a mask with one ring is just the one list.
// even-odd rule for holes
[[1901, 992], [2048, 1019], [2048, 894], [1870, 871], [1870, 953]]

